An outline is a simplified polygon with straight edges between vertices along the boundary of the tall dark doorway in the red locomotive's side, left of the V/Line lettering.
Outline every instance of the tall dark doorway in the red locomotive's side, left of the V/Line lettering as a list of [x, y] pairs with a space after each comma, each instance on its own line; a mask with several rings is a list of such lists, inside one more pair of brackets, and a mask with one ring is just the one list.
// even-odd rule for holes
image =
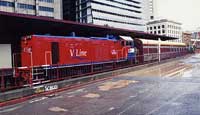
[[59, 44], [58, 42], [51, 43], [51, 52], [52, 52], [52, 64], [58, 64], [59, 62]]

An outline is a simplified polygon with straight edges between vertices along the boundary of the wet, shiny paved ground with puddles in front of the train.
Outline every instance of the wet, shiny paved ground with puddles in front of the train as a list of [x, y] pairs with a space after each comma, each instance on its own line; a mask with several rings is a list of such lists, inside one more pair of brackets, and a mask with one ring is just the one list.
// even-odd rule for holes
[[0, 108], [0, 115], [199, 115], [200, 55]]

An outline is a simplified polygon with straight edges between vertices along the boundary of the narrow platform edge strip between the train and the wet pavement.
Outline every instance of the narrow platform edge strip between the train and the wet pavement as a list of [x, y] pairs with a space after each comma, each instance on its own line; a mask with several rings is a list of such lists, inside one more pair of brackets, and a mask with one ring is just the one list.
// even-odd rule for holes
[[78, 77], [78, 78], [73, 78], [69, 80], [62, 80], [62, 81], [57, 81], [57, 82], [52, 82], [52, 83], [46, 83], [42, 85], [37, 85], [33, 87], [24, 87], [21, 89], [15, 89], [11, 91], [6, 91], [6, 92], [0, 92], [0, 107], [2, 107], [1, 103], [2, 102], [7, 102], [10, 100], [15, 100], [15, 99], [21, 99], [21, 98], [28, 98], [32, 96], [38, 96], [38, 95], [43, 95], [41, 93], [46, 93], [55, 89], [69, 89], [70, 87], [73, 87], [74, 85], [83, 85], [87, 84], [88, 82], [95, 82], [95, 80], [101, 80], [101, 79], [108, 79], [109, 77], [120, 75], [123, 73], [128, 73], [132, 71], [136, 71], [139, 69], [147, 68], [153, 65], [159, 65], [162, 63], [166, 63], [169, 61], [174, 61], [178, 60], [183, 57], [178, 57], [175, 59], [169, 59], [169, 60], [164, 60], [162, 62], [153, 62], [153, 63], [148, 63], [145, 65], [139, 65], [139, 66], [134, 66], [134, 67], [129, 67], [129, 68], [123, 68], [123, 69], [118, 69], [114, 71], [109, 71], [109, 72], [104, 72], [104, 73], [99, 73], [99, 74], [93, 74], [93, 75], [88, 75], [88, 76], [83, 76], [83, 77]]

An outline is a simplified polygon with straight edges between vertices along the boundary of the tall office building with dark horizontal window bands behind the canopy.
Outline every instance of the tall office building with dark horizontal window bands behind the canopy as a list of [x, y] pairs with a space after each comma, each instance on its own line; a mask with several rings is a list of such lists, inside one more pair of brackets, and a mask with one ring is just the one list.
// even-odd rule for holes
[[[69, 0], [70, 1], [70, 0]], [[76, 1], [76, 21], [109, 27], [146, 31], [149, 19], [147, 0], [71, 0]], [[63, 0], [67, 4], [67, 1]], [[72, 5], [74, 5], [72, 4]], [[64, 7], [70, 7], [65, 5]], [[67, 8], [64, 17], [70, 16]], [[68, 9], [69, 10], [69, 9]], [[74, 15], [74, 13], [72, 13]]]

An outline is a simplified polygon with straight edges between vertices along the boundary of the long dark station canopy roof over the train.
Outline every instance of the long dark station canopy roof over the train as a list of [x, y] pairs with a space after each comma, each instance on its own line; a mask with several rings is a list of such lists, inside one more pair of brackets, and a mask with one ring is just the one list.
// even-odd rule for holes
[[93, 24], [83, 24], [73, 21], [58, 20], [47, 17], [23, 15], [16, 13], [0, 12], [0, 43], [19, 40], [21, 36], [39, 35], [58, 35], [69, 36], [75, 32], [77, 36], [96, 36], [106, 35], [131, 36], [132, 38], [172, 40], [173, 37], [149, 34], [141, 31], [120, 29]]

